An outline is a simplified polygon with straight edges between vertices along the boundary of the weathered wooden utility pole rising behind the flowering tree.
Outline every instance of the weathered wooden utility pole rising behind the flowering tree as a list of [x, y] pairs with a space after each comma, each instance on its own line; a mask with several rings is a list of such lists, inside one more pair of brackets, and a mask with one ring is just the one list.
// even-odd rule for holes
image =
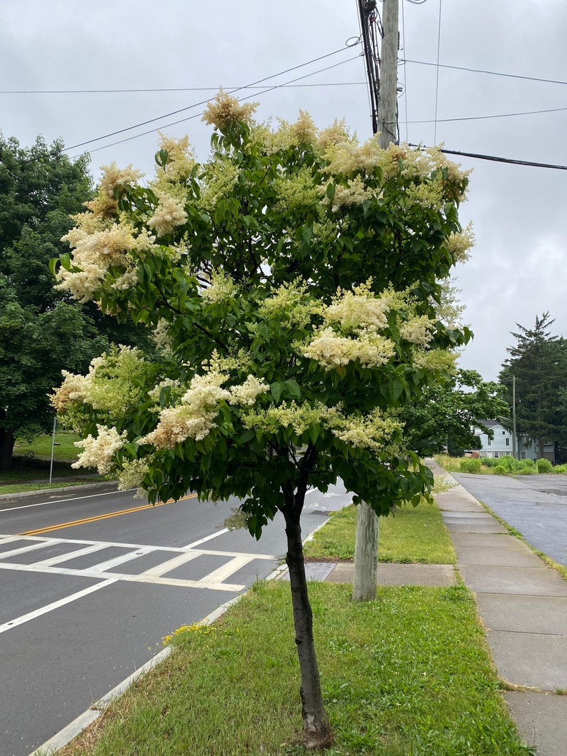
[[[398, 138], [398, 0], [383, 0], [383, 37], [380, 62], [380, 81], [373, 82], [371, 67], [368, 65], [370, 50], [367, 40], [372, 35], [367, 32], [364, 24], [375, 23], [371, 20], [370, 12], [376, 8], [376, 3], [359, 0], [361, 12], [362, 40], [365, 45], [364, 53], [367, 59], [368, 83], [370, 85], [370, 101], [373, 94], [378, 101], [377, 130], [380, 132], [380, 147], [386, 149], [391, 142]], [[373, 129], [376, 133], [376, 128]], [[377, 569], [378, 569], [378, 534], [379, 518], [369, 504], [358, 504], [356, 514], [355, 540], [355, 576], [352, 581], [352, 598], [355, 601], [371, 601], [376, 598]]]

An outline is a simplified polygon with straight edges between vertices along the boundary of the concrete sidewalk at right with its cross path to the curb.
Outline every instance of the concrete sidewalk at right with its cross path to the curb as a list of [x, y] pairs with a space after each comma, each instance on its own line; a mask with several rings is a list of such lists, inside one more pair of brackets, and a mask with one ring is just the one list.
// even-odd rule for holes
[[[432, 460], [431, 460], [432, 462]], [[567, 756], [567, 581], [508, 534], [484, 507], [435, 463], [436, 475], [454, 484], [436, 500], [457, 552], [457, 570], [476, 596], [494, 665], [519, 731], [538, 756]], [[354, 565], [306, 565], [308, 578], [352, 582]], [[379, 563], [386, 585], [450, 585], [452, 565]]]

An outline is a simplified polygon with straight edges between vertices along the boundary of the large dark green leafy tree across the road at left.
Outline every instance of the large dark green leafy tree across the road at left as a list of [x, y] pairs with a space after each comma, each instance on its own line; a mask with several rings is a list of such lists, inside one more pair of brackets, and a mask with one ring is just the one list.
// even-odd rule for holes
[[17, 435], [53, 423], [48, 393], [60, 372], [86, 370], [110, 339], [132, 340], [132, 327], [94, 305], [54, 291], [50, 259], [93, 191], [88, 157], [70, 160], [63, 144], [38, 138], [20, 147], [0, 135], [0, 469], [10, 469]]

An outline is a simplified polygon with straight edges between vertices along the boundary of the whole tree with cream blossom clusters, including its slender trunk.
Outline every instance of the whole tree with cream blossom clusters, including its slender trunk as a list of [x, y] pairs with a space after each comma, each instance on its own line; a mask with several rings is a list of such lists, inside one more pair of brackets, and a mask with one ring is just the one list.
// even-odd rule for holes
[[[342, 479], [387, 514], [432, 484], [398, 408], [451, 369], [469, 333], [435, 318], [462, 253], [466, 175], [438, 150], [381, 150], [344, 122], [278, 129], [221, 92], [208, 162], [162, 137], [156, 177], [106, 169], [67, 234], [58, 287], [155, 329], [160, 359], [115, 349], [52, 399], [88, 433], [79, 464], [150, 502], [240, 497], [256, 538], [279, 511], [301, 668], [305, 742], [331, 733], [321, 698], [300, 516]], [[55, 268], [55, 266], [54, 266]]]

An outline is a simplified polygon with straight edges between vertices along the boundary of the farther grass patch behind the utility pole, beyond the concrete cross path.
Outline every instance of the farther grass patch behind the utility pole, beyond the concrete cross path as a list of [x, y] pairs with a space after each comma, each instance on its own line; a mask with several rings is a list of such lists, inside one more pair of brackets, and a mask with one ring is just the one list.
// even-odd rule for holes
[[[355, 558], [356, 507], [333, 512], [329, 521], [305, 544], [309, 559]], [[451, 538], [436, 504], [398, 507], [394, 515], [380, 517], [378, 538], [380, 562], [454, 564]]]

